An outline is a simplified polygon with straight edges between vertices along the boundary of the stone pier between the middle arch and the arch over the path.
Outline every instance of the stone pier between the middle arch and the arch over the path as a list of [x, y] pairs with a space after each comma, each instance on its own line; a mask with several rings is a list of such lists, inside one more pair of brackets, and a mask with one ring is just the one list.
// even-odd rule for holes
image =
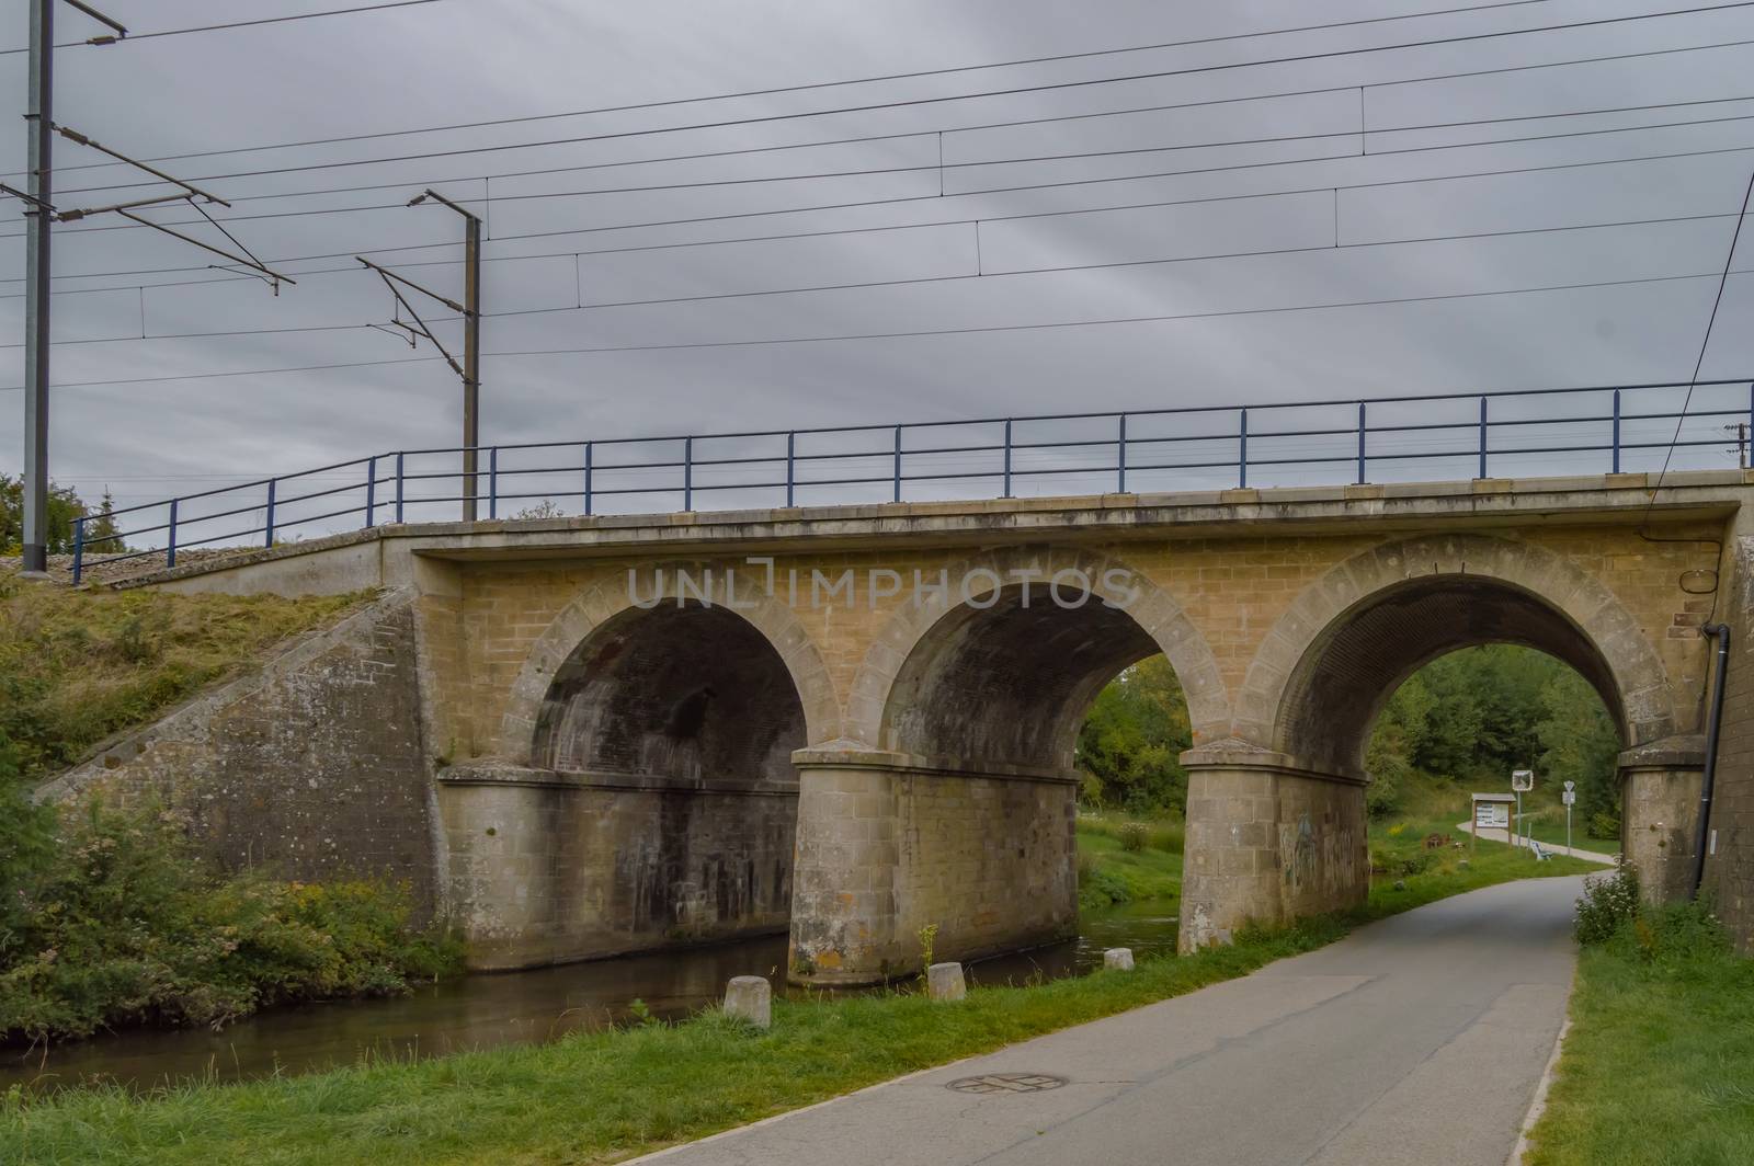
[[1365, 782], [1224, 742], [1182, 754], [1187, 842], [1182, 952], [1245, 924], [1358, 906], [1370, 892]]

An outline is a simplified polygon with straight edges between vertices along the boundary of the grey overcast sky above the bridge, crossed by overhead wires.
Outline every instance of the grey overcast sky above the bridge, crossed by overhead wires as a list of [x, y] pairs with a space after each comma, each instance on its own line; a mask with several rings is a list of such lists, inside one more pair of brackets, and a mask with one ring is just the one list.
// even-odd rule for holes
[[[347, 4], [103, 5], [137, 33], [333, 7]], [[133, 503], [454, 445], [456, 377], [426, 342], [410, 349], [368, 326], [393, 305], [351, 260], [460, 298], [458, 216], [403, 205], [424, 186], [488, 219], [484, 442], [1687, 380], [1754, 167], [1754, 7], [1552, 28], [1682, 7], [1703, 5], [438, 0], [65, 47], [56, 119], [230, 200], [212, 216], [298, 282], [275, 296], [114, 216], [58, 228], [54, 475]], [[1268, 35], [1396, 16], [1408, 19]], [[0, 47], [25, 44], [25, 0], [4, 2], [0, 28]], [[1545, 32], [1486, 35], [1510, 30]], [[95, 32], [61, 5], [60, 40]], [[1437, 40], [1449, 42], [1415, 44]], [[1526, 68], [1580, 58], [1619, 60]], [[0, 56], [14, 109], [25, 63]], [[817, 88], [774, 91], [789, 86]], [[768, 93], [721, 96], [751, 89]], [[300, 146], [346, 137], [358, 140]], [[0, 121], [0, 160], [14, 168], [0, 181], [23, 184], [16, 117]], [[1615, 160], [1635, 161], [1575, 165]], [[70, 142], [56, 161], [63, 209], [167, 189]], [[16, 472], [25, 247], [18, 203], [5, 214], [0, 470]], [[186, 205], [147, 214], [223, 242]], [[1740, 252], [1733, 267], [1754, 268], [1749, 237]], [[863, 286], [824, 289], [835, 284]], [[784, 289], [807, 291], [742, 295]], [[1517, 295], [1479, 295], [1505, 291]], [[1703, 377], [1754, 370], [1750, 312], [1754, 279], [1731, 275]], [[456, 323], [435, 330], [460, 342]], [[316, 365], [353, 366], [253, 372]], [[249, 375], [212, 375], [233, 372]], [[1605, 400], [1542, 409], [1600, 416]], [[1628, 412], [1679, 400], [1643, 395]], [[1694, 409], [1745, 403], [1745, 386], [1693, 398]], [[1475, 410], [1382, 407], [1372, 421]], [[1715, 440], [1728, 419], [1687, 437]], [[1351, 407], [1261, 410], [1251, 428], [1351, 421]], [[1235, 414], [1179, 416], [1138, 421], [1133, 435], [1235, 424]], [[1631, 431], [1661, 442], [1668, 424]], [[930, 440], [980, 444], [944, 433], [954, 440]], [[910, 435], [910, 449], [926, 440]], [[1251, 458], [1286, 465], [1251, 484], [1344, 475], [1289, 463], [1344, 456], [1349, 440], [1256, 438]], [[1372, 449], [1465, 440], [1380, 435]], [[1138, 461], [1228, 459], [1233, 447], [1228, 437], [1159, 445]], [[921, 456], [910, 468], [977, 458]], [[1661, 458], [1633, 452], [1628, 468]], [[1733, 461], [1733, 438], [1677, 456]], [[1493, 468], [1607, 466], [1537, 454]], [[1130, 484], [1223, 486], [1231, 473], [1140, 472]], [[1468, 473], [1470, 459], [1372, 470]], [[1031, 489], [1056, 486], [1100, 482], [1044, 477]]]

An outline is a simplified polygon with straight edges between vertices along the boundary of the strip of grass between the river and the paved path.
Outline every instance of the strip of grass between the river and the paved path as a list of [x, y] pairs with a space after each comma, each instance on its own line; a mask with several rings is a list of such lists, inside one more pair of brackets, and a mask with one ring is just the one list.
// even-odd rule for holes
[[[1417, 826], [1384, 849], [1414, 854]], [[1528, 875], [1535, 864], [1480, 843], [1468, 864], [1389, 880], [1349, 917], [1300, 922], [1189, 957], [1142, 961], [1035, 987], [973, 989], [935, 1006], [914, 996], [777, 1001], [768, 1033], [717, 1013], [681, 1026], [577, 1034], [551, 1045], [360, 1064], [246, 1085], [188, 1084], [147, 1099], [91, 1089], [0, 1099], [0, 1161], [375, 1166], [428, 1162], [603, 1162], [700, 1138], [910, 1070], [942, 1064], [1245, 975], [1330, 943], [1351, 926]]]

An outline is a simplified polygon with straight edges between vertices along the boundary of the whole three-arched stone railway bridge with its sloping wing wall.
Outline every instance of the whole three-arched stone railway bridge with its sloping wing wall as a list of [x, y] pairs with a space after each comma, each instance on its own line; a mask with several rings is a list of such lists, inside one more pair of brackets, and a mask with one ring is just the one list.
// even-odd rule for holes
[[188, 812], [228, 863], [407, 878], [481, 968], [789, 928], [791, 975], [1075, 924], [1073, 743], [1163, 652], [1187, 693], [1184, 947], [1368, 889], [1365, 742], [1475, 643], [1577, 668], [1624, 847], [1691, 889], [1708, 621], [1736, 633], [1710, 878], [1754, 915], [1754, 473], [388, 526], [146, 580], [379, 598], [53, 794]]

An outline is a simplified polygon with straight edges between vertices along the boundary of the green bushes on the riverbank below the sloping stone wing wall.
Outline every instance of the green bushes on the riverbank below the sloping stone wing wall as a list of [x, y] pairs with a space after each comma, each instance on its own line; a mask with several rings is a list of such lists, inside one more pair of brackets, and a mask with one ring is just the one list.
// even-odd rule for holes
[[98, 803], [9, 887], [0, 1036], [221, 1026], [263, 1005], [400, 992], [458, 949], [409, 926], [407, 891], [209, 871], [168, 814]]

